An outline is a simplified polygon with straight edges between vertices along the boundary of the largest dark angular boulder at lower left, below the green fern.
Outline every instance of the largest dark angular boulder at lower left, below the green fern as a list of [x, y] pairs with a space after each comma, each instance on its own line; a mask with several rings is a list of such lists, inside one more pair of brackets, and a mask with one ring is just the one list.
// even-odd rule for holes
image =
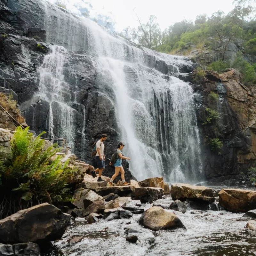
[[60, 239], [71, 215], [44, 203], [0, 220], [0, 243], [50, 242]]

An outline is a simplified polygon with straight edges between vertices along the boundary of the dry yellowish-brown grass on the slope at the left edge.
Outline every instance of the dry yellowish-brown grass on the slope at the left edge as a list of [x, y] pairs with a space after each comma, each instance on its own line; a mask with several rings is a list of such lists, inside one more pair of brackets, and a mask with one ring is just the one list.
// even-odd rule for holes
[[25, 122], [25, 119], [24, 117], [21, 116], [20, 109], [17, 108], [17, 101], [13, 100], [12, 98], [13, 98], [12, 94], [10, 94], [7, 98], [6, 95], [3, 92], [1, 92], [0, 105], [21, 124]]

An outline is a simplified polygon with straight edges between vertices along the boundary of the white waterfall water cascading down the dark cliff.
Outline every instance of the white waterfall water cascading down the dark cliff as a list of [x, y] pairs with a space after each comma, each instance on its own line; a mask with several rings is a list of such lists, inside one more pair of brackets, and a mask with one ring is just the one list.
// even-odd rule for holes
[[[57, 136], [57, 132], [75, 145], [76, 111], [70, 102], [76, 101], [76, 92], [71, 95], [63, 67], [69, 51], [88, 51], [96, 54], [93, 65], [100, 90], [103, 92], [107, 84], [113, 91], [119, 139], [126, 145], [124, 154], [131, 157], [133, 175], [139, 180], [152, 176], [164, 176], [171, 182], [199, 180], [202, 164], [192, 89], [154, 69], [156, 60], [164, 60], [170, 72], [179, 73], [179, 65], [186, 61], [139, 49], [84, 17], [65, 13], [56, 18], [48, 10], [50, 4], [44, 2], [44, 7], [47, 42], [62, 45], [51, 46], [40, 70], [40, 93], [51, 102], [50, 117], [59, 118], [58, 131], [49, 118], [50, 134]], [[51, 26], [52, 22], [56, 26]], [[56, 105], [60, 109], [57, 114]]]

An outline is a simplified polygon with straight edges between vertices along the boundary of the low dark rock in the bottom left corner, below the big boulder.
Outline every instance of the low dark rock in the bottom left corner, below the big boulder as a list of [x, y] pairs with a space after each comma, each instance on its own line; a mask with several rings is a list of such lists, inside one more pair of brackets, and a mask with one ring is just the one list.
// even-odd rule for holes
[[40, 256], [38, 244], [31, 242], [22, 244], [0, 244], [0, 255], [2, 256]]

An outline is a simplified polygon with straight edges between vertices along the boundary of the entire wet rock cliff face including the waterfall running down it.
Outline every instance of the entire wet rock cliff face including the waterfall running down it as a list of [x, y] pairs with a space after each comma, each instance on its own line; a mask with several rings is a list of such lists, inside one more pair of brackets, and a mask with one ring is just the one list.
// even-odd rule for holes
[[[1, 92], [15, 93], [31, 130], [67, 139], [78, 158], [93, 164], [91, 145], [107, 133], [107, 166], [124, 140], [140, 180], [201, 181], [255, 164], [254, 114], [244, 112], [253, 92], [232, 72], [220, 76], [222, 83], [209, 74], [193, 94], [183, 81], [191, 81], [196, 64], [186, 57], [138, 47], [44, 0], [0, 0], [0, 16]], [[218, 125], [201, 125], [205, 107], [218, 109]], [[206, 136], [223, 140], [222, 155], [202, 143]]]

